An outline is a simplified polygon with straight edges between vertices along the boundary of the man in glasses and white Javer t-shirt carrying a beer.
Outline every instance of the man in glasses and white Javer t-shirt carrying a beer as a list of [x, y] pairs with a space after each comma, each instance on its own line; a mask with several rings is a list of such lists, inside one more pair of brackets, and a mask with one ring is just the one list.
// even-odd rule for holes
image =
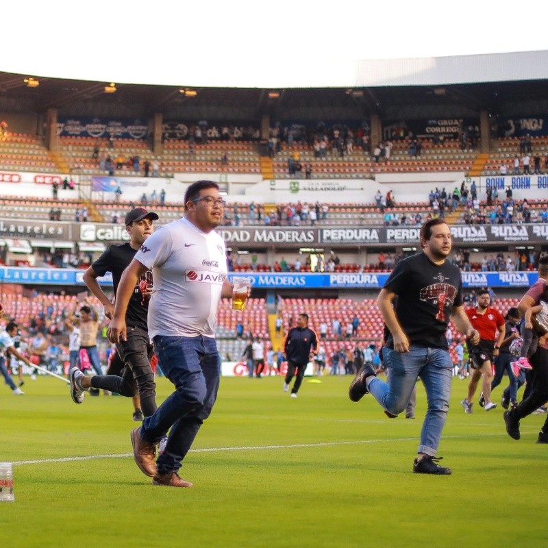
[[[154, 485], [192, 487], [179, 477], [182, 460], [208, 418], [219, 389], [221, 358], [215, 342], [221, 297], [232, 297], [225, 242], [214, 232], [225, 201], [212, 181], [191, 184], [184, 217], [156, 230], [125, 269], [108, 329], [111, 343], [126, 338], [125, 312], [138, 277], [151, 270], [149, 336], [158, 364], [175, 392], [132, 432], [134, 459]], [[155, 461], [155, 444], [169, 430]]]

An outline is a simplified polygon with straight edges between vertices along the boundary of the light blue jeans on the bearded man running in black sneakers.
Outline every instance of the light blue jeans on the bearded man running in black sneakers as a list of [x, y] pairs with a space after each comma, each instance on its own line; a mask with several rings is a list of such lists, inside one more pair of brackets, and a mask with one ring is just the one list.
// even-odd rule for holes
[[388, 384], [375, 377], [369, 383], [369, 392], [388, 412], [399, 414], [409, 403], [416, 379], [420, 377], [428, 410], [417, 452], [436, 456], [451, 396], [453, 364], [449, 352], [412, 345], [409, 352], [400, 353], [385, 347], [383, 358], [390, 371]]

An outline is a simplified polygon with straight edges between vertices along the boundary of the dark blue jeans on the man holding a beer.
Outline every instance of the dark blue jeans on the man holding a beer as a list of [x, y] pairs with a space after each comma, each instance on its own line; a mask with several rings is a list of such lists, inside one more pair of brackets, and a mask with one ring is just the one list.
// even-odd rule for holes
[[[175, 392], [142, 423], [140, 435], [158, 442], [169, 430], [164, 453], [156, 461], [159, 474], [177, 472], [211, 410], [219, 390], [221, 357], [214, 338], [157, 335], [153, 345], [158, 364]], [[170, 429], [171, 428], [171, 429]]]

